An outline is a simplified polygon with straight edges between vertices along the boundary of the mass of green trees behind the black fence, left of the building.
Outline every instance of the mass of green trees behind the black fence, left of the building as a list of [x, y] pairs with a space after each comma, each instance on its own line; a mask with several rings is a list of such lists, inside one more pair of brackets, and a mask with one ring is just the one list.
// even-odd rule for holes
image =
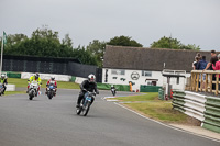
[[98, 65], [100, 61], [100, 59], [98, 60], [99, 56], [103, 56], [103, 52], [98, 50], [100, 44], [102, 43], [95, 41], [95, 43], [90, 43], [89, 50], [80, 46], [74, 49], [69, 34], [66, 34], [61, 43], [58, 32], [43, 26], [42, 29], [36, 29], [30, 38], [24, 34], [8, 35], [4, 54], [38, 57], [74, 57], [82, 64]]

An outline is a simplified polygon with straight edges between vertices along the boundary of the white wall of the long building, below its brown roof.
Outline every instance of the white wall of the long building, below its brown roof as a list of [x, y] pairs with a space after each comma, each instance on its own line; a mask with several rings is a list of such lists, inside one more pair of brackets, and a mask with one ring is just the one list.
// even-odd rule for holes
[[[147, 85], [146, 79], [158, 79], [156, 86], [165, 86], [167, 82], [167, 78], [162, 76], [161, 71], [152, 71], [151, 77], [142, 76], [142, 70], [125, 70], [124, 75], [112, 75], [112, 69], [108, 69], [108, 81], [106, 81], [106, 70], [108, 68], [102, 69], [102, 83], [111, 83], [111, 85], [129, 85], [129, 81], [135, 82], [133, 89], [139, 89], [140, 85]], [[138, 72], [140, 78], [138, 80], [133, 80], [131, 78], [132, 72]], [[190, 77], [190, 74], [186, 74], [187, 77]], [[113, 79], [117, 77], [117, 79]], [[122, 79], [125, 79], [124, 81]], [[176, 78], [172, 78], [170, 83], [173, 85], [173, 89], [184, 89], [186, 85], [186, 78], [179, 78], [179, 85], [176, 85]]]

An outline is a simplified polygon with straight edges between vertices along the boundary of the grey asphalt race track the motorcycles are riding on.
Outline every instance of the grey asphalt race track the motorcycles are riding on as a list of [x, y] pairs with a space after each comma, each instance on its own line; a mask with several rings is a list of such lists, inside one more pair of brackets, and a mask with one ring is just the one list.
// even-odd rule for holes
[[88, 116], [76, 115], [78, 92], [58, 90], [53, 100], [44, 94], [33, 101], [28, 94], [0, 97], [0, 146], [220, 146], [102, 100], [110, 91], [100, 91]]

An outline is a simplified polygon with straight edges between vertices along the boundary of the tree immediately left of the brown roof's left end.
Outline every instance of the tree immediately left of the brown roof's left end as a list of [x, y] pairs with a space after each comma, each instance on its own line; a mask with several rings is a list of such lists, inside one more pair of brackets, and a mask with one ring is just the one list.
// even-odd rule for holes
[[106, 50], [106, 42], [94, 40], [87, 46], [87, 50], [96, 58], [98, 66], [102, 67], [103, 54]]

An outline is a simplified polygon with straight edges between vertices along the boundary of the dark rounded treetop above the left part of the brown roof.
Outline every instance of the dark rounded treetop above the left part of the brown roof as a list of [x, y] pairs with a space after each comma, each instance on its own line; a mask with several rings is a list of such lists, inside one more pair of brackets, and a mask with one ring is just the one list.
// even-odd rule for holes
[[138, 43], [136, 41], [132, 40], [129, 36], [116, 36], [111, 38], [108, 43], [108, 45], [116, 45], [116, 46], [133, 46], [133, 47], [143, 47], [142, 44]]

